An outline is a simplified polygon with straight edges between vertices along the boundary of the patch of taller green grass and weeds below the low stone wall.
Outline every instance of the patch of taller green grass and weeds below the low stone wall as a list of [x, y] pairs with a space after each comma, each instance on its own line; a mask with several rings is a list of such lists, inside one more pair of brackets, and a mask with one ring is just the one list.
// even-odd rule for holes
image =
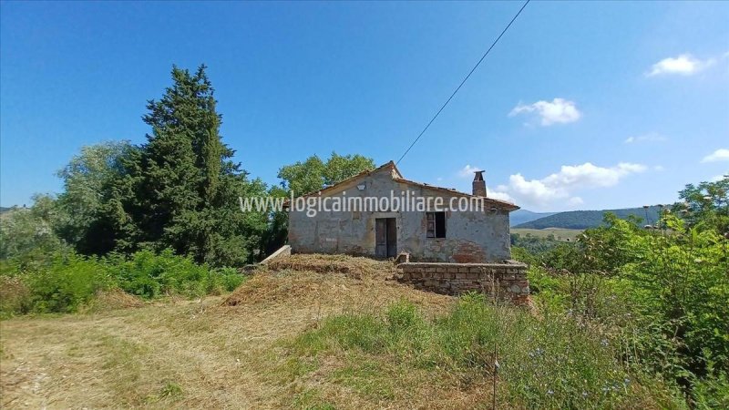
[[493, 306], [480, 295], [463, 297], [451, 313], [434, 320], [409, 302], [397, 302], [383, 315], [335, 315], [289, 348], [310, 364], [298, 376], [319, 373], [312, 358], [340, 358], [341, 364], [325, 371], [327, 383], [375, 402], [405, 395], [403, 386], [418, 383], [408, 375], [421, 374], [428, 384], [456, 379], [466, 389], [489, 390], [496, 377], [496, 391], [489, 393], [519, 407], [683, 406], [675, 390], [631, 372], [617, 346], [589, 323], [559, 314], [537, 318]]

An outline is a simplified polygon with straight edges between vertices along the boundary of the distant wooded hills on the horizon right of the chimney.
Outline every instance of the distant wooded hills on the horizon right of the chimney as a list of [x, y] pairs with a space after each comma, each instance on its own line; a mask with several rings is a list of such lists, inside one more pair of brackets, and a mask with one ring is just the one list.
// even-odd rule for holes
[[[514, 228], [528, 228], [533, 230], [543, 230], [546, 228], [586, 230], [602, 225], [602, 218], [605, 216], [605, 212], [612, 212], [621, 219], [628, 218], [629, 215], [634, 215], [645, 222], [645, 210], [642, 208], [626, 208], [623, 210], [570, 210], [555, 213], [539, 218], [538, 220], [529, 220], [528, 222], [514, 226]], [[648, 209], [648, 223], [655, 223], [658, 220], [658, 212], [659, 208], [657, 206]]]

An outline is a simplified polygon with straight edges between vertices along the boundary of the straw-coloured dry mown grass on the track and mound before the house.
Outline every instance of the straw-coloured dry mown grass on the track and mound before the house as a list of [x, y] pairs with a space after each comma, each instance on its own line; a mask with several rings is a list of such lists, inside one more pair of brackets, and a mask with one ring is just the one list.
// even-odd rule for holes
[[485, 388], [447, 374], [400, 374], [386, 357], [291, 360], [287, 341], [330, 314], [379, 313], [406, 299], [436, 315], [454, 301], [385, 280], [392, 272], [389, 262], [294, 255], [227, 298], [107, 310], [138, 304], [117, 295], [95, 313], [3, 321], [0, 405], [468, 408], [482, 401]]

